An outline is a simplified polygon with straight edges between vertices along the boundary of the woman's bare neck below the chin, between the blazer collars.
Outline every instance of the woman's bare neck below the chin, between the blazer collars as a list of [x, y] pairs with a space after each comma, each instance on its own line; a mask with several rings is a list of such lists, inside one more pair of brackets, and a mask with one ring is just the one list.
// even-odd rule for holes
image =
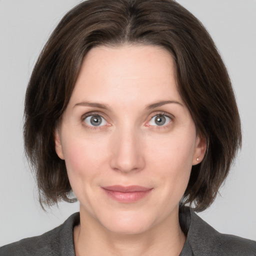
[[114, 233], [80, 209], [80, 224], [74, 228], [76, 256], [179, 255], [185, 235], [178, 222], [178, 209], [149, 230], [136, 234]]

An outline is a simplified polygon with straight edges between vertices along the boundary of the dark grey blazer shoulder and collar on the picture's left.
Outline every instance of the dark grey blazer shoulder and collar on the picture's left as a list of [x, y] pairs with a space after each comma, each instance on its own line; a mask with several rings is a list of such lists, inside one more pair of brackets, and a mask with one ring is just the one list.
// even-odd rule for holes
[[79, 222], [79, 213], [72, 214], [63, 224], [42, 235], [29, 237], [0, 247], [1, 256], [60, 255], [61, 250], [74, 254], [72, 230]]

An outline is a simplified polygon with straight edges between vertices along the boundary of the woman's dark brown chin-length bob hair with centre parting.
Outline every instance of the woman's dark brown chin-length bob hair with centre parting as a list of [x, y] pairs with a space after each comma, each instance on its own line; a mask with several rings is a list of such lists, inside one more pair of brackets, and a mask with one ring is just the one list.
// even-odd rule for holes
[[[227, 70], [210, 35], [173, 0], [87, 0], [65, 14], [42, 49], [25, 95], [24, 146], [34, 169], [39, 201], [73, 202], [54, 132], [71, 96], [81, 63], [95, 46], [157, 45], [175, 63], [178, 92], [207, 143], [192, 166], [181, 199], [195, 211], [216, 197], [241, 145], [240, 119]], [[170, 152], [171, 153], [171, 152]]]

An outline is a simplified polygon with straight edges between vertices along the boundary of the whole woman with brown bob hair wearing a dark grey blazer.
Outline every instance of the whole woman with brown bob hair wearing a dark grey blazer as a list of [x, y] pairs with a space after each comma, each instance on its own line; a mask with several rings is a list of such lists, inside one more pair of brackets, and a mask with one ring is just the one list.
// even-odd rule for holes
[[207, 208], [241, 143], [223, 62], [169, 0], [93, 0], [46, 43], [25, 99], [24, 141], [45, 204], [80, 202], [60, 227], [3, 255], [253, 255]]

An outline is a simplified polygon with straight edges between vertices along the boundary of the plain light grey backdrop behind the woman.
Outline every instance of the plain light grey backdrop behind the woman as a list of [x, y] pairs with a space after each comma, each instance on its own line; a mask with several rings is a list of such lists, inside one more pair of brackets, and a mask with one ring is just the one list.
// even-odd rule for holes
[[[0, 0], [0, 245], [62, 223], [78, 203], [44, 212], [23, 154], [22, 115], [35, 59], [79, 0]], [[256, 239], [256, 1], [178, 0], [206, 26], [227, 65], [243, 145], [213, 205], [199, 215], [215, 229]]]

